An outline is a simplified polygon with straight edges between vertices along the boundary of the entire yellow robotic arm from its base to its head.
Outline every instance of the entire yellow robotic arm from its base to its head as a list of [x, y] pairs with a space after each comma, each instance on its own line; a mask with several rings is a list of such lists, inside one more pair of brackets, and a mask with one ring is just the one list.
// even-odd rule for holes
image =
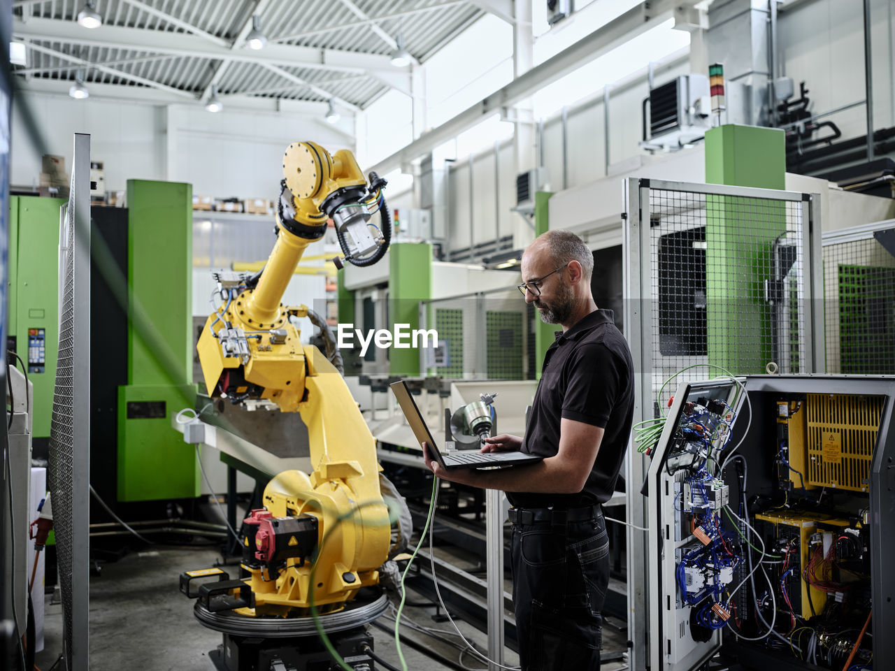
[[[245, 616], [302, 615], [311, 599], [321, 610], [342, 607], [378, 582], [390, 538], [370, 429], [337, 369], [301, 344], [289, 318], [307, 308], [282, 303], [305, 248], [323, 237], [328, 219], [346, 260], [369, 265], [382, 258], [390, 237], [385, 180], [371, 173], [368, 185], [350, 151], [330, 155], [313, 142], [286, 149], [283, 174], [267, 265], [260, 276], [217, 273], [226, 302], [198, 345], [209, 396], [267, 399], [283, 412], [301, 412], [310, 437], [313, 471], [277, 475], [264, 491], [265, 509], [246, 520], [244, 582], [252, 601], [237, 611]], [[377, 208], [382, 226], [372, 234], [367, 222]]]

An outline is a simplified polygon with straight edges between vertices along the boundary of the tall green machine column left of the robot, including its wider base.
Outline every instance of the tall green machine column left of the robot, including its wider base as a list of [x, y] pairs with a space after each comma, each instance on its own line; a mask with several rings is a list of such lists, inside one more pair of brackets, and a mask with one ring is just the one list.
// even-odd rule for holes
[[192, 185], [130, 180], [127, 204], [128, 385], [118, 388], [118, 499], [198, 497], [195, 453], [170, 419], [195, 403]]

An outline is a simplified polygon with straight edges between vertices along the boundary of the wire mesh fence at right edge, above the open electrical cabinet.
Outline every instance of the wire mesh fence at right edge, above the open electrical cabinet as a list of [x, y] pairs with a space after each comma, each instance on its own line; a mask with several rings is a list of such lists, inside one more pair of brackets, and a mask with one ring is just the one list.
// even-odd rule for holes
[[827, 372], [895, 374], [895, 257], [883, 244], [892, 231], [824, 238]]

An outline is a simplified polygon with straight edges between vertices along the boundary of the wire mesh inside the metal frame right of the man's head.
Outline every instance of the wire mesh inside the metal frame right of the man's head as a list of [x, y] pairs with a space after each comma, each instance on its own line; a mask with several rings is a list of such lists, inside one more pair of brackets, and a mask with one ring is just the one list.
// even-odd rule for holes
[[[641, 299], [652, 399], [695, 364], [735, 375], [763, 373], [771, 362], [781, 373], [805, 372], [802, 217], [800, 201], [650, 189]], [[720, 369], [686, 370], [664, 396]]]

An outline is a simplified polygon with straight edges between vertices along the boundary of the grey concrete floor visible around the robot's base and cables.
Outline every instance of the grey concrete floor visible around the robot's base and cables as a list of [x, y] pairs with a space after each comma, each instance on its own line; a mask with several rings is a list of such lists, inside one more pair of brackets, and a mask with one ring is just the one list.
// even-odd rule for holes
[[[178, 576], [183, 571], [214, 565], [219, 555], [215, 548], [183, 548], [155, 546], [134, 551], [121, 560], [103, 565], [102, 573], [90, 581], [90, 670], [122, 671], [212, 671], [209, 650], [221, 642], [221, 634], [202, 626], [192, 615], [192, 600], [178, 589]], [[421, 600], [408, 592], [408, 599]], [[405, 623], [416, 623], [439, 630], [451, 630], [449, 623], [436, 623], [431, 616], [435, 607], [406, 607], [402, 616], [401, 635], [405, 661], [411, 671], [438, 671], [452, 668], [424, 655], [410, 645], [419, 641], [423, 648], [439, 650], [456, 660], [454, 668], [482, 669], [468, 652], [460, 658], [460, 650], [424, 633], [413, 631]], [[394, 622], [388, 613], [379, 618], [389, 632], [371, 626], [374, 650], [395, 667], [401, 667], [395, 650]], [[487, 650], [487, 637], [468, 624], [458, 622], [467, 639], [480, 650]], [[618, 623], [615, 623], [618, 624]], [[457, 640], [451, 630], [440, 634]], [[604, 627], [604, 650], [623, 650], [626, 637], [609, 620]], [[462, 646], [462, 643], [461, 643]], [[45, 646], [38, 652], [38, 668], [47, 671], [62, 650], [62, 607], [51, 604], [47, 596]], [[515, 653], [507, 649], [507, 666], [518, 664]], [[603, 665], [604, 671], [625, 668], [624, 662]]]

